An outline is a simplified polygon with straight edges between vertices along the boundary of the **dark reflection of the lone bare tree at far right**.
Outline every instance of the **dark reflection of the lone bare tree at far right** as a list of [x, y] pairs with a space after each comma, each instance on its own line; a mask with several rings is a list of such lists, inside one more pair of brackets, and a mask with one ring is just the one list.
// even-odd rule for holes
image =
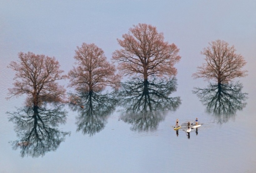
[[206, 89], [194, 88], [196, 94], [208, 113], [214, 113], [219, 123], [228, 122], [234, 118], [237, 110], [245, 108], [244, 101], [248, 99], [247, 93], [242, 93], [243, 85], [239, 82], [230, 84], [212, 84]]

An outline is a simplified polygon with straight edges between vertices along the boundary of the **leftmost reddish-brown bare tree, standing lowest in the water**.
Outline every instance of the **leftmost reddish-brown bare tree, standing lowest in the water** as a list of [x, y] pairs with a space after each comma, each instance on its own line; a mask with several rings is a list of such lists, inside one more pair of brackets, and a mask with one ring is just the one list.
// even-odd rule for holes
[[14, 88], [9, 89], [11, 97], [27, 94], [27, 103], [32, 100], [34, 108], [45, 102], [64, 101], [66, 90], [56, 81], [65, 76], [54, 57], [32, 52], [20, 52], [18, 57], [18, 62], [12, 61], [8, 66], [16, 71]]

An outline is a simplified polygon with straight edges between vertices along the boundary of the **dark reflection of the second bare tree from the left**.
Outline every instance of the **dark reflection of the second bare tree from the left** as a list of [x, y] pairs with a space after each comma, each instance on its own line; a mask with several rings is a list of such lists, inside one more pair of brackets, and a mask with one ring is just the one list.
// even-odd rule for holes
[[70, 107], [79, 114], [76, 117], [77, 130], [83, 134], [94, 135], [107, 123], [107, 117], [115, 111], [118, 102], [115, 94], [101, 94], [89, 91], [80, 95], [72, 94]]

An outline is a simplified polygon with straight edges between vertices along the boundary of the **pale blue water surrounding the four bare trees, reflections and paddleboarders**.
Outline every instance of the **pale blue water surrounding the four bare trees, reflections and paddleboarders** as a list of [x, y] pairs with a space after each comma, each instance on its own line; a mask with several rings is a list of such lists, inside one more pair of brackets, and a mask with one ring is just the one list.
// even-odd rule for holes
[[[255, 7], [255, 1], [0, 2], [0, 173], [256, 172]], [[92, 136], [77, 131], [78, 113], [65, 107], [66, 124], [56, 128], [70, 136], [56, 150], [39, 157], [21, 157], [20, 148], [13, 150], [12, 142], [19, 137], [6, 112], [22, 107], [25, 97], [5, 99], [14, 77], [6, 66], [17, 60], [17, 53], [55, 56], [67, 74], [76, 46], [95, 43], [110, 60], [119, 49], [116, 38], [139, 22], [156, 26], [166, 41], [180, 48], [182, 58], [175, 65], [178, 88], [171, 95], [180, 96], [180, 107], [156, 112], [152, 118], [158, 123], [145, 130], [125, 123], [118, 107]], [[206, 113], [191, 92], [193, 87], [207, 86], [191, 75], [204, 62], [200, 51], [216, 39], [234, 45], [248, 62], [249, 75], [239, 79], [242, 91], [249, 93], [247, 105], [228, 117]], [[176, 119], [185, 126], [196, 117], [202, 124], [198, 134], [192, 130], [188, 138], [182, 128], [177, 136], [172, 129]]]

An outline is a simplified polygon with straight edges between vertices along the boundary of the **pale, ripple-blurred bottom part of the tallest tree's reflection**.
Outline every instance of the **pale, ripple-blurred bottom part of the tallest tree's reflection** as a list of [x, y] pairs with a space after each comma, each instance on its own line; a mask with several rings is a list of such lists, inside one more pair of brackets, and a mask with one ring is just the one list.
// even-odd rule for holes
[[132, 124], [134, 131], [156, 130], [158, 124], [165, 118], [163, 112], [143, 112], [143, 113], [127, 113], [121, 116], [121, 120], [125, 123]]

